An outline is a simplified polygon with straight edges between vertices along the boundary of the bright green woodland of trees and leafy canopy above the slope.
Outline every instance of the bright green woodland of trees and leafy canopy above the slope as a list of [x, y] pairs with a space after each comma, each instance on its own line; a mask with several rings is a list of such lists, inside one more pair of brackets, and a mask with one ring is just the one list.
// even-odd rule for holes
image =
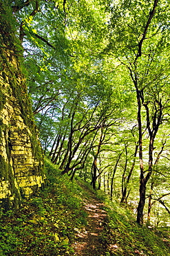
[[138, 223], [166, 225], [169, 1], [3, 2], [44, 154], [137, 208]]

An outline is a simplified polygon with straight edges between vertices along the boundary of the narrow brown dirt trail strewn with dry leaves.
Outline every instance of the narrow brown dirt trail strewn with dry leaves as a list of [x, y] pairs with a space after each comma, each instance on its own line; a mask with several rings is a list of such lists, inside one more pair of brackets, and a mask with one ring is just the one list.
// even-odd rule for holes
[[84, 208], [88, 214], [87, 226], [84, 230], [77, 230], [76, 242], [72, 246], [74, 255], [105, 256], [107, 244], [103, 235], [107, 226], [107, 213], [103, 210], [104, 204], [92, 192], [88, 191], [88, 194], [90, 196], [84, 200]]

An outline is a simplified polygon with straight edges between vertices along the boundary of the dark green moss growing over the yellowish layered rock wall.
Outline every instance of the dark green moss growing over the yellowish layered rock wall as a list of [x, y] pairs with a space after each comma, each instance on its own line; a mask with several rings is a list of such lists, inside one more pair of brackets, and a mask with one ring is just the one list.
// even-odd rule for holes
[[[39, 166], [37, 169], [41, 174], [43, 174], [43, 167], [41, 166], [41, 161], [43, 160], [41, 145], [36, 138], [36, 128], [32, 113], [32, 105], [30, 99], [28, 98], [28, 90], [25, 83], [25, 77], [23, 75], [23, 66], [21, 57], [19, 57], [22, 55], [23, 48], [21, 47], [21, 42], [19, 42], [19, 39], [17, 39], [15, 36], [16, 21], [14, 21], [11, 9], [8, 7], [9, 6], [5, 3], [0, 3], [0, 44], [1, 46], [4, 46], [3, 48], [0, 48], [0, 64], [2, 78], [5, 84], [4, 90], [6, 89], [6, 95], [4, 95], [2, 89], [0, 89], [0, 111], [3, 109], [4, 104], [6, 104], [6, 99], [10, 98], [12, 95], [12, 97], [16, 99], [12, 100], [12, 107], [14, 111], [16, 109], [17, 115], [21, 115], [23, 122], [25, 123], [26, 127], [30, 129], [32, 135], [30, 136], [30, 134], [28, 134], [27, 129], [25, 129], [25, 131], [22, 129], [21, 132], [31, 137], [32, 154], [36, 158], [36, 161], [39, 161]], [[15, 116], [12, 116], [10, 125], [16, 126]], [[4, 127], [3, 120], [0, 120], [0, 140], [2, 133], [4, 133], [4, 138], [6, 138], [6, 153], [8, 155], [8, 161], [10, 161], [10, 150], [12, 146], [12, 143], [10, 142], [10, 127]], [[2, 156], [0, 156], [0, 179], [2, 178], [10, 182], [10, 190], [12, 192], [12, 196], [14, 196], [14, 204], [19, 205], [21, 196], [14, 183], [12, 167], [10, 164], [4, 161]]]

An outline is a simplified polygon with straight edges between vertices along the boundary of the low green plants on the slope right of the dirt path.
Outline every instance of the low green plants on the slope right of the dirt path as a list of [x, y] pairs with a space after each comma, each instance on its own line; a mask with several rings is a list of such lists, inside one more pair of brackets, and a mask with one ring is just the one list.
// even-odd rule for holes
[[109, 242], [114, 244], [113, 255], [170, 254], [169, 247], [164, 243], [166, 232], [160, 232], [161, 235], [158, 235], [158, 230], [139, 226], [131, 210], [120, 207], [116, 202], [109, 203], [106, 210], [109, 214]]

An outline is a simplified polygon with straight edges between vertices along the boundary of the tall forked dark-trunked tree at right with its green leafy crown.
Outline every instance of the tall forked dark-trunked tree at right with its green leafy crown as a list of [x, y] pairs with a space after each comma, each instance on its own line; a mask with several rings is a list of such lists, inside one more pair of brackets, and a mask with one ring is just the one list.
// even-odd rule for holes
[[[166, 8], [167, 2], [157, 0], [141, 3], [123, 1], [119, 5], [112, 5], [109, 24], [111, 34], [105, 50], [111, 51], [120, 64], [127, 68], [136, 91], [140, 159], [137, 221], [140, 224], [143, 222], [147, 182], [153, 173], [154, 142], [169, 109]], [[142, 147], [146, 129], [149, 136], [147, 167], [144, 166]]]

